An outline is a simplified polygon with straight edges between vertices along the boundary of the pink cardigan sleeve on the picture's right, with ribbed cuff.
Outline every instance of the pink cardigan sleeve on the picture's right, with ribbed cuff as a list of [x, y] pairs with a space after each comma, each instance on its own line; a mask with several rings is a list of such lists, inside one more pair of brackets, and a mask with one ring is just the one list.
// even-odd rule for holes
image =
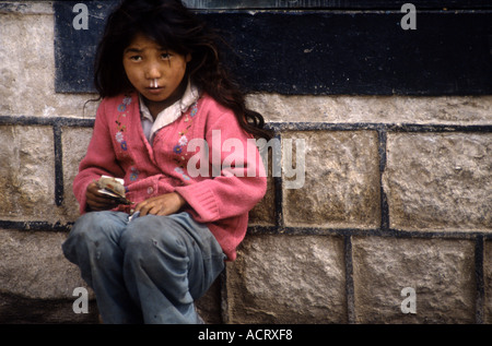
[[[210, 223], [248, 213], [265, 195], [267, 178], [256, 142], [232, 112], [219, 117], [206, 133], [212, 179], [175, 189]], [[189, 172], [189, 171], [188, 171]]]

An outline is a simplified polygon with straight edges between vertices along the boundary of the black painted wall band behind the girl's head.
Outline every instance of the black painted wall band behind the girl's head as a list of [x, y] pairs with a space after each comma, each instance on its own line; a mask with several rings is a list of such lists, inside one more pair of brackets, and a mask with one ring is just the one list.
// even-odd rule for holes
[[[59, 93], [94, 91], [95, 47], [116, 1], [87, 2], [86, 31], [72, 27], [77, 3], [54, 2]], [[337, 8], [336, 1], [326, 3]], [[339, 2], [342, 9], [337, 10], [209, 8], [197, 12], [223, 33], [232, 48], [224, 49], [224, 62], [247, 91], [286, 95], [492, 94], [490, 3], [454, 1], [449, 2], [455, 5], [452, 10], [437, 1], [419, 1], [417, 29], [401, 27], [405, 13], [398, 8], [405, 2], [374, 2], [377, 10], [371, 11], [361, 10], [371, 8], [371, 1], [343, 9], [349, 3]]]

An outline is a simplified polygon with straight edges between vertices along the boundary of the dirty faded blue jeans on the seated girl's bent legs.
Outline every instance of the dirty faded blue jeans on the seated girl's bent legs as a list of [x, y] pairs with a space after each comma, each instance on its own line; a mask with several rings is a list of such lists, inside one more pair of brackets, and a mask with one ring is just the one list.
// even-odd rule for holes
[[188, 213], [82, 215], [62, 244], [94, 290], [104, 323], [199, 323], [194, 300], [224, 269], [209, 228]]

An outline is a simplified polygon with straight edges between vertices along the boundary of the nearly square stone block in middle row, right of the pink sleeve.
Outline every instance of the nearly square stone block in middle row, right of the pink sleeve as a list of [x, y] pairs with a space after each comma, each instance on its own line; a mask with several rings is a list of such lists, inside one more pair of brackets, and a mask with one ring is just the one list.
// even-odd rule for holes
[[283, 190], [286, 226], [379, 226], [376, 132], [286, 132], [286, 139], [306, 143], [304, 186]]

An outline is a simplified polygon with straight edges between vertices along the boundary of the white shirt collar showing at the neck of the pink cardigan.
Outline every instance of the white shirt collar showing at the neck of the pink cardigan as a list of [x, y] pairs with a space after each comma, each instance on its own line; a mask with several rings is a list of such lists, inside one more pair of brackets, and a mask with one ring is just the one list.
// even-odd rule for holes
[[199, 97], [198, 88], [194, 84], [191, 84], [191, 82], [188, 82], [188, 85], [186, 86], [186, 91], [183, 94], [183, 97], [179, 100], [175, 102], [169, 107], [162, 110], [154, 121], [154, 118], [152, 118], [149, 108], [143, 103], [142, 95], [139, 95], [142, 129], [151, 146], [152, 141], [154, 139], [154, 134], [165, 126], [178, 119], [181, 116], [181, 114], [188, 110], [189, 106], [191, 106], [198, 99], [198, 97]]

